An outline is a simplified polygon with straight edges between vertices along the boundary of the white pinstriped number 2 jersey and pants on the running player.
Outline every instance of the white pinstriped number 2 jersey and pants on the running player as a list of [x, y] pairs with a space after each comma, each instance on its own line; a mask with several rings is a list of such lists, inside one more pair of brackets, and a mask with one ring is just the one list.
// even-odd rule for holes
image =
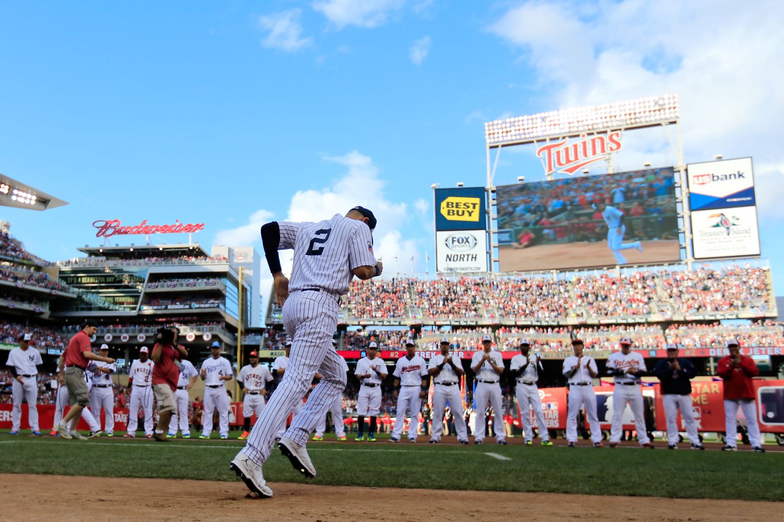
[[335, 396], [346, 387], [346, 373], [332, 346], [337, 327], [339, 298], [348, 292], [359, 266], [376, 266], [373, 243], [366, 223], [336, 214], [318, 223], [278, 222], [278, 249], [294, 249], [289, 298], [283, 306], [283, 323], [292, 335], [291, 361], [278, 389], [253, 426], [245, 455], [257, 464], [269, 458], [275, 434], [302, 402], [316, 372], [324, 376], [285, 437], [307, 444], [310, 433]]

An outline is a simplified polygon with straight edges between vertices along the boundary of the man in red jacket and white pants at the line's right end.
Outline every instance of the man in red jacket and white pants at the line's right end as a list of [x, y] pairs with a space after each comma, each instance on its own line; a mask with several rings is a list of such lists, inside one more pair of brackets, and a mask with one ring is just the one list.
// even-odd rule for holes
[[723, 451], [738, 449], [738, 407], [746, 417], [746, 430], [753, 451], [764, 452], [760, 441], [760, 426], [757, 424], [757, 401], [754, 401], [753, 377], [760, 375], [757, 364], [751, 357], [741, 355], [737, 340], [727, 343], [730, 354], [719, 359], [717, 374], [724, 379], [724, 415], [727, 444]]

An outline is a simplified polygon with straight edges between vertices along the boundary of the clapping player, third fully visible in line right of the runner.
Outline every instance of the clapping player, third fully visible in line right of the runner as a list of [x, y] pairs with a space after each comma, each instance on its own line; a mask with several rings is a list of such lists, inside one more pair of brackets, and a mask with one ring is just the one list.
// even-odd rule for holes
[[468, 444], [466, 421], [463, 419], [463, 397], [460, 396], [460, 378], [463, 376], [463, 363], [457, 353], [449, 353], [449, 339], [441, 339], [441, 353], [430, 357], [427, 373], [433, 375], [433, 428], [430, 430], [430, 444], [441, 442], [444, 432], [444, 410], [447, 402], [455, 419], [457, 440]]

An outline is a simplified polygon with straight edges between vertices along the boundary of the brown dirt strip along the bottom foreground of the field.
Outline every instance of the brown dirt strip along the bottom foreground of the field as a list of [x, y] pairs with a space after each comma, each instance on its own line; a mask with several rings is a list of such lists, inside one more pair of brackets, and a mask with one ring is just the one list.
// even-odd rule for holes
[[345, 488], [270, 484], [274, 498], [245, 485], [201, 480], [0, 475], [3, 520], [775, 520], [778, 502], [652, 497]]

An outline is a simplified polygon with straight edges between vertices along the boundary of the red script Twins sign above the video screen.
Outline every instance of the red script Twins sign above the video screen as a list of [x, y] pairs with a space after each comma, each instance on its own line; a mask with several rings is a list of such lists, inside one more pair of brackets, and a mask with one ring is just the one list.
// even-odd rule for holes
[[553, 172], [574, 174], [578, 169], [595, 161], [601, 161], [611, 152], [620, 149], [621, 133], [615, 131], [590, 137], [580, 134], [580, 139], [574, 142], [564, 138], [556, 143], [547, 143], [536, 149], [536, 155], [542, 158], [545, 174]]

